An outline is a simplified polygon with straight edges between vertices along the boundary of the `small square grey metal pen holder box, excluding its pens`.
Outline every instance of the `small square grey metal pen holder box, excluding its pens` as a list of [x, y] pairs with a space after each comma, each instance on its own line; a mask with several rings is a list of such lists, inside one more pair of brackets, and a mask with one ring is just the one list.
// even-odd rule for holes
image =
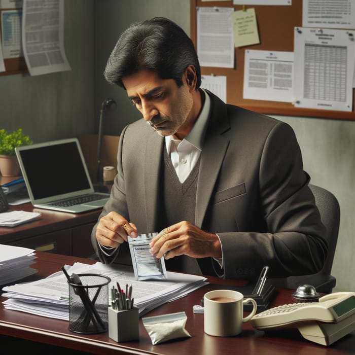
[[109, 307], [109, 337], [118, 343], [139, 339], [139, 309]]

